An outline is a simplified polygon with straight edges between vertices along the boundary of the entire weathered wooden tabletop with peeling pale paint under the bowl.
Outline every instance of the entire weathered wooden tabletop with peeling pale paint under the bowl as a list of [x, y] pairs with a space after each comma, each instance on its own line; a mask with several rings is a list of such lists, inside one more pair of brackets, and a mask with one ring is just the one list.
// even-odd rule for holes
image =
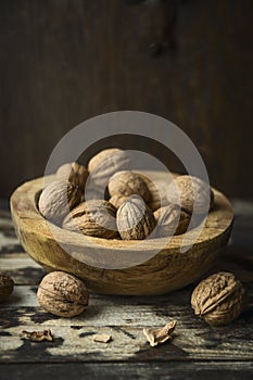
[[[210, 273], [230, 270], [249, 292], [249, 309], [235, 322], [212, 328], [193, 315], [193, 286], [163, 296], [90, 294], [89, 308], [75, 318], [46, 313], [36, 300], [43, 269], [15, 237], [7, 203], [0, 207], [0, 269], [15, 281], [0, 305], [0, 379], [252, 379], [253, 376], [253, 202], [233, 200], [232, 237]], [[144, 327], [176, 319], [174, 338], [151, 347]], [[50, 329], [52, 342], [31, 342], [23, 330]], [[93, 342], [96, 333], [112, 335]]]

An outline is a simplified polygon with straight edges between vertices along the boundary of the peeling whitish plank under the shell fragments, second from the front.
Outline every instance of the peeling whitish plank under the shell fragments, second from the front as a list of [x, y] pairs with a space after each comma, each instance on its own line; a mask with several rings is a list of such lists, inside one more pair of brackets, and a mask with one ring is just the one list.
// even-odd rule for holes
[[[41, 328], [51, 329], [53, 342], [30, 342], [23, 339], [22, 331], [30, 331], [30, 326], [27, 325], [1, 331], [0, 362], [253, 360], [250, 329], [242, 326], [214, 331], [205, 327], [186, 328], [179, 321], [175, 338], [155, 349], [149, 345], [140, 327], [62, 327], [47, 324]], [[96, 333], [111, 334], [112, 341], [94, 342], [92, 338]]]

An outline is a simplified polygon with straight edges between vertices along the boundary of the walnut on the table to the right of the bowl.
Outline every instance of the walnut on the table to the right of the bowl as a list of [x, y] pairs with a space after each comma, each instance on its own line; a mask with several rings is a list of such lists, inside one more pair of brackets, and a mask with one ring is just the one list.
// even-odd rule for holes
[[235, 275], [220, 271], [201, 281], [191, 295], [195, 315], [212, 326], [236, 319], [244, 306], [244, 289]]

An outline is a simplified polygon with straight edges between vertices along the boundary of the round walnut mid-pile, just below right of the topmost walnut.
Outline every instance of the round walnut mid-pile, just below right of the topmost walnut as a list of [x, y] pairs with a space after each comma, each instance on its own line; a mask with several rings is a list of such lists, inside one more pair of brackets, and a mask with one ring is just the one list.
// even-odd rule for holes
[[143, 178], [135, 172], [124, 170], [115, 173], [109, 180], [109, 192], [113, 195], [140, 195], [146, 202], [150, 200], [150, 192]]

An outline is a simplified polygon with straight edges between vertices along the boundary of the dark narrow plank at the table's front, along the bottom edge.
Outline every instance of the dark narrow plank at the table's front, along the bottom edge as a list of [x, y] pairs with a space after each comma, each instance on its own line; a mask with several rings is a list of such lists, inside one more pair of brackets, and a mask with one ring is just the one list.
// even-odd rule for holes
[[4, 364], [0, 365], [0, 379], [251, 380], [252, 371], [253, 364], [245, 362]]

